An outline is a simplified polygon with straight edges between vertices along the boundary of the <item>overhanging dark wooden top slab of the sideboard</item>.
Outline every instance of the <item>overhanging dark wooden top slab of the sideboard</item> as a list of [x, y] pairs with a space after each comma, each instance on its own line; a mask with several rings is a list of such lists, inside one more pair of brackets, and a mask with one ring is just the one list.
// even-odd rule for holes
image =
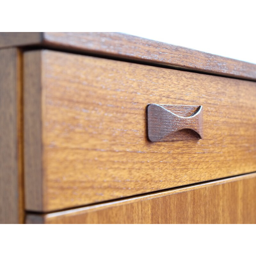
[[38, 45], [256, 80], [255, 64], [113, 32], [0, 33], [0, 47]]

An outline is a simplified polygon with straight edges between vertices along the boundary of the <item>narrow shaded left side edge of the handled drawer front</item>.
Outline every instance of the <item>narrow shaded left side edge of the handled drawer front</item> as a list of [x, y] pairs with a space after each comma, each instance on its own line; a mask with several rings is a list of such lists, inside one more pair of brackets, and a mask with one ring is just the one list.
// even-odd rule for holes
[[36, 211], [42, 200], [41, 53], [24, 53], [25, 207]]

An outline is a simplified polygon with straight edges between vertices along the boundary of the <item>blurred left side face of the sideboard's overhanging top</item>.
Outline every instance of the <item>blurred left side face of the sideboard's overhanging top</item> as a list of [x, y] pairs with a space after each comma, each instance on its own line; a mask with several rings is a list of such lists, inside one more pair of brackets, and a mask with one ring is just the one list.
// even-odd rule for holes
[[0, 32], [0, 48], [41, 44], [42, 40], [40, 32]]

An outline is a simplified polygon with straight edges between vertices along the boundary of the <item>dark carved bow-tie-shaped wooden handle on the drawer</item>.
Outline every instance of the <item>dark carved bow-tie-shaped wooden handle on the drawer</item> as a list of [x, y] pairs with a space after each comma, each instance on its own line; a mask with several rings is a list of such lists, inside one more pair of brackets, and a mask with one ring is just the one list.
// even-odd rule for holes
[[149, 104], [147, 114], [152, 142], [203, 139], [203, 106]]

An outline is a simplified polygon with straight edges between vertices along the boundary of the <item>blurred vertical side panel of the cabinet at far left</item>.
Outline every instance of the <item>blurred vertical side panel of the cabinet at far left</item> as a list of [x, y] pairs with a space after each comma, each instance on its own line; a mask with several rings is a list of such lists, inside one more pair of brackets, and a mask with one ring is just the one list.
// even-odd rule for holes
[[0, 50], [0, 223], [24, 222], [20, 53]]

